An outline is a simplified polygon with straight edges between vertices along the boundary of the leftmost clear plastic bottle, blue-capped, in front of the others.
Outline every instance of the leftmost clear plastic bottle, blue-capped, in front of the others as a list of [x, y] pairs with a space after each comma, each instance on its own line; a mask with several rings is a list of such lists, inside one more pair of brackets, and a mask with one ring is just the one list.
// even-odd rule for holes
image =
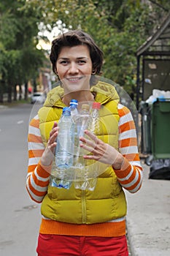
[[63, 108], [63, 114], [58, 122], [58, 138], [55, 149], [55, 165], [58, 168], [58, 178], [53, 177], [52, 187], [69, 189], [72, 181], [66, 177], [66, 170], [72, 167], [74, 161], [74, 121], [70, 108]]

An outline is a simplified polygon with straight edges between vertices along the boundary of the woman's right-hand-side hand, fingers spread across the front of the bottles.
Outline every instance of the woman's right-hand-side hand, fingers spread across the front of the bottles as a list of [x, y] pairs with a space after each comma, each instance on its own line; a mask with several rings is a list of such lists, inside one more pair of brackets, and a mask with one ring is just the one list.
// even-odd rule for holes
[[103, 162], [104, 164], [112, 165], [116, 170], [120, 170], [124, 161], [123, 155], [109, 144], [99, 140], [92, 132], [85, 130], [85, 135], [88, 135], [90, 139], [81, 137], [82, 143], [80, 147], [92, 154], [85, 155], [84, 158]]

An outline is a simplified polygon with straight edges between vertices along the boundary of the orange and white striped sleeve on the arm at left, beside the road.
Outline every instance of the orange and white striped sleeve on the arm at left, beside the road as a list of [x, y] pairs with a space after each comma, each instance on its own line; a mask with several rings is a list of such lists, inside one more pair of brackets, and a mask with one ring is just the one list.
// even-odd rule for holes
[[48, 167], [43, 167], [40, 162], [45, 146], [39, 130], [39, 117], [35, 116], [28, 127], [28, 174], [26, 177], [26, 189], [31, 199], [41, 203], [47, 194], [50, 179]]

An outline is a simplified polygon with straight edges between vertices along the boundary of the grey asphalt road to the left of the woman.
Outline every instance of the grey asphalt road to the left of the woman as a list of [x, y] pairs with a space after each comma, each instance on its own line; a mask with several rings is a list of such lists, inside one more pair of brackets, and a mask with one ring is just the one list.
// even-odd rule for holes
[[[0, 106], [1, 107], [1, 106]], [[39, 106], [0, 108], [0, 255], [34, 256], [39, 204], [26, 192], [28, 122]]]

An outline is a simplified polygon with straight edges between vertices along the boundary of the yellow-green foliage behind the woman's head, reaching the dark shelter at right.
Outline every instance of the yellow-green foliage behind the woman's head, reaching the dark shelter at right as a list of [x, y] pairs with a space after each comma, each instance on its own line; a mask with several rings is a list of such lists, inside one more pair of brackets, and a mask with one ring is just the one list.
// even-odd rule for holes
[[[145, 4], [144, 4], [145, 2]], [[103, 75], [134, 91], [136, 50], [169, 10], [169, 0], [29, 0], [40, 20], [53, 28], [82, 29], [104, 51]]]

